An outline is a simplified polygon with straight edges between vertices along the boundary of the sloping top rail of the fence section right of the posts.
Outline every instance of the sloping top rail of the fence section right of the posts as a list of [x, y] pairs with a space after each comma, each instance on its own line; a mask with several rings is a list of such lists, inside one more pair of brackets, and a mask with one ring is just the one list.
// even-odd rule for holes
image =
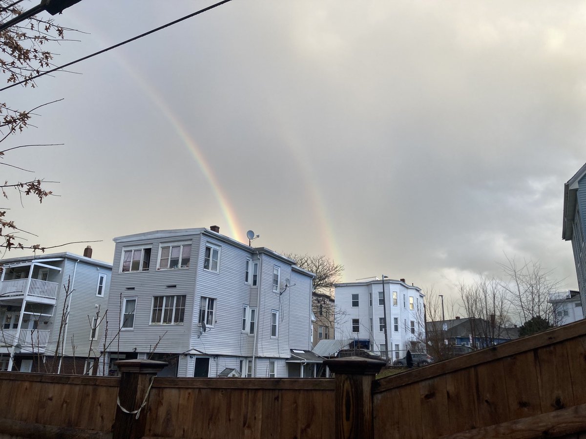
[[456, 358], [434, 363], [422, 368], [411, 369], [411, 371], [398, 373], [376, 380], [374, 392], [384, 392], [409, 383], [418, 382], [445, 373], [454, 372], [459, 369], [477, 366], [482, 363], [495, 361], [500, 358], [520, 354], [521, 352], [532, 351], [548, 345], [565, 342], [567, 340], [584, 337], [586, 335], [586, 320], [553, 328], [540, 334], [523, 337], [490, 348], [472, 352], [472, 354], [461, 355]]

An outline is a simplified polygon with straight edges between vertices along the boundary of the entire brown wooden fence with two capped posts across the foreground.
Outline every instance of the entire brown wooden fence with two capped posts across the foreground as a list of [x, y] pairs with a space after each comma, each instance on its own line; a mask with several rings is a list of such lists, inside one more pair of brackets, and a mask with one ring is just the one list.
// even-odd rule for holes
[[586, 437], [586, 321], [380, 380], [382, 362], [326, 363], [335, 379], [0, 372], [0, 437]]

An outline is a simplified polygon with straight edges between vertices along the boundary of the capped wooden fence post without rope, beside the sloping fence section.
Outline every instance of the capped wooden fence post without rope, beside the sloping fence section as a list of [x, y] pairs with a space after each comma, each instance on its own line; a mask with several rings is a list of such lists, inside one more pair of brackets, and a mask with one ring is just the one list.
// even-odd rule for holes
[[373, 439], [372, 383], [385, 362], [347, 356], [323, 364], [336, 374], [336, 439]]

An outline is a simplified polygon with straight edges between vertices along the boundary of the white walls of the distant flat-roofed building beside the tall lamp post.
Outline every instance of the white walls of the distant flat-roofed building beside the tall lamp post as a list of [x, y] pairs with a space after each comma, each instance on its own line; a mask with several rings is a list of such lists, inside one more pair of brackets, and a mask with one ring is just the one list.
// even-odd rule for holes
[[[346, 283], [336, 286], [336, 306], [345, 313], [345, 318], [336, 325], [336, 339], [366, 339], [369, 340], [371, 350], [380, 352], [384, 345], [384, 328], [380, 330], [380, 318], [384, 317], [383, 305], [379, 305], [379, 291], [382, 284], [379, 281], [366, 283]], [[393, 304], [393, 292], [397, 293], [397, 305]], [[359, 306], [352, 306], [352, 294], [359, 295]], [[372, 294], [372, 304], [370, 301]], [[408, 286], [397, 280], [386, 280], [384, 294], [387, 308], [387, 336], [389, 338], [389, 356], [402, 357], [406, 349], [411, 349], [411, 342], [421, 344], [425, 340], [423, 294], [418, 287]], [[405, 301], [403, 302], [403, 295]], [[413, 310], [410, 310], [409, 297], [413, 297]], [[359, 318], [360, 331], [352, 332], [352, 319]], [[370, 319], [372, 318], [372, 330]], [[394, 318], [397, 318], [397, 331], [394, 330]], [[415, 334], [411, 334], [411, 321], [415, 324]]]

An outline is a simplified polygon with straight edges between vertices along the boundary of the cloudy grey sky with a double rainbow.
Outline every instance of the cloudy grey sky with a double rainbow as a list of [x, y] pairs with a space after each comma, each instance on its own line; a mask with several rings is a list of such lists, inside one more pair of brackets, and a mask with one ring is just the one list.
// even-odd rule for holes
[[[54, 17], [83, 32], [54, 62], [211, 4], [83, 0]], [[100, 240], [105, 261], [115, 236], [218, 225], [326, 255], [343, 282], [450, 296], [509, 256], [577, 289], [561, 227], [586, 162], [585, 32], [578, 1], [233, 0], [0, 92], [27, 109], [63, 98], [6, 146], [64, 145], [4, 159], [58, 197], [4, 203], [30, 242]]]

